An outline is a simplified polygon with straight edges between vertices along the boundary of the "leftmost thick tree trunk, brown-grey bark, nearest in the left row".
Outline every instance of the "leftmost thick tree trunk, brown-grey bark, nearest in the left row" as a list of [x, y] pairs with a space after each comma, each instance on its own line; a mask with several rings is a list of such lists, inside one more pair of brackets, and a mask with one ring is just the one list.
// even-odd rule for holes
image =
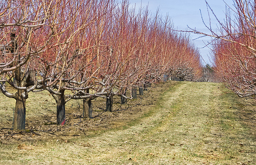
[[16, 93], [16, 105], [14, 110], [13, 130], [24, 130], [26, 123], [26, 99], [22, 97], [22, 91]]

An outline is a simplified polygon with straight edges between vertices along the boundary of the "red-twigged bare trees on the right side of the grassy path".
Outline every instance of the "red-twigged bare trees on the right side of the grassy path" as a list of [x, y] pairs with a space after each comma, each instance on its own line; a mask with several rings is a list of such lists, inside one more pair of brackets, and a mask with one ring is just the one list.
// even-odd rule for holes
[[[226, 12], [225, 22], [216, 17], [220, 25], [218, 32], [210, 27], [207, 27], [210, 34], [193, 32], [215, 38], [212, 55], [217, 76], [238, 96], [248, 97], [256, 92], [256, 3], [250, 0], [234, 0], [233, 3], [234, 8]], [[208, 8], [214, 13], [209, 5]]]

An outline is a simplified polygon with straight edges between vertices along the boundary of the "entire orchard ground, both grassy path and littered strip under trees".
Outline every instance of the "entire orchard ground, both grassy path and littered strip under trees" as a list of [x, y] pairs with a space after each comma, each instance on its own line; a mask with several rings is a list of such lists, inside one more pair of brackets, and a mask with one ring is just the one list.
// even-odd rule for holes
[[256, 104], [220, 83], [153, 84], [144, 96], [104, 112], [66, 104], [57, 126], [46, 92], [29, 93], [26, 130], [13, 131], [14, 100], [0, 94], [0, 164], [256, 164]]

